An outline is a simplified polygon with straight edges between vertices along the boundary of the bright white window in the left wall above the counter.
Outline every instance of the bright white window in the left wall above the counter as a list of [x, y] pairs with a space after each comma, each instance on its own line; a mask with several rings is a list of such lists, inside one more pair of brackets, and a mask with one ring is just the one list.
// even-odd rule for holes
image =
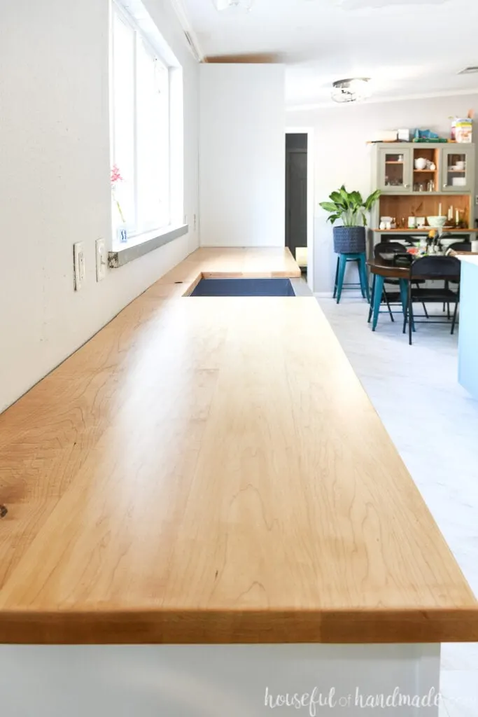
[[111, 154], [115, 184], [113, 236], [128, 237], [171, 222], [169, 70], [132, 20], [113, 4]]

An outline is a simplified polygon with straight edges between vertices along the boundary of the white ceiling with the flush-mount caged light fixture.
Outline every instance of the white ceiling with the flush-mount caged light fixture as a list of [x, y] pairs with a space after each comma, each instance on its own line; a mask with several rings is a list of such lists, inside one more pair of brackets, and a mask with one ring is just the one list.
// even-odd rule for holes
[[344, 77], [371, 77], [373, 100], [478, 91], [478, 74], [458, 75], [478, 65], [478, 0], [182, 1], [204, 56], [282, 58], [289, 106], [330, 103]]

